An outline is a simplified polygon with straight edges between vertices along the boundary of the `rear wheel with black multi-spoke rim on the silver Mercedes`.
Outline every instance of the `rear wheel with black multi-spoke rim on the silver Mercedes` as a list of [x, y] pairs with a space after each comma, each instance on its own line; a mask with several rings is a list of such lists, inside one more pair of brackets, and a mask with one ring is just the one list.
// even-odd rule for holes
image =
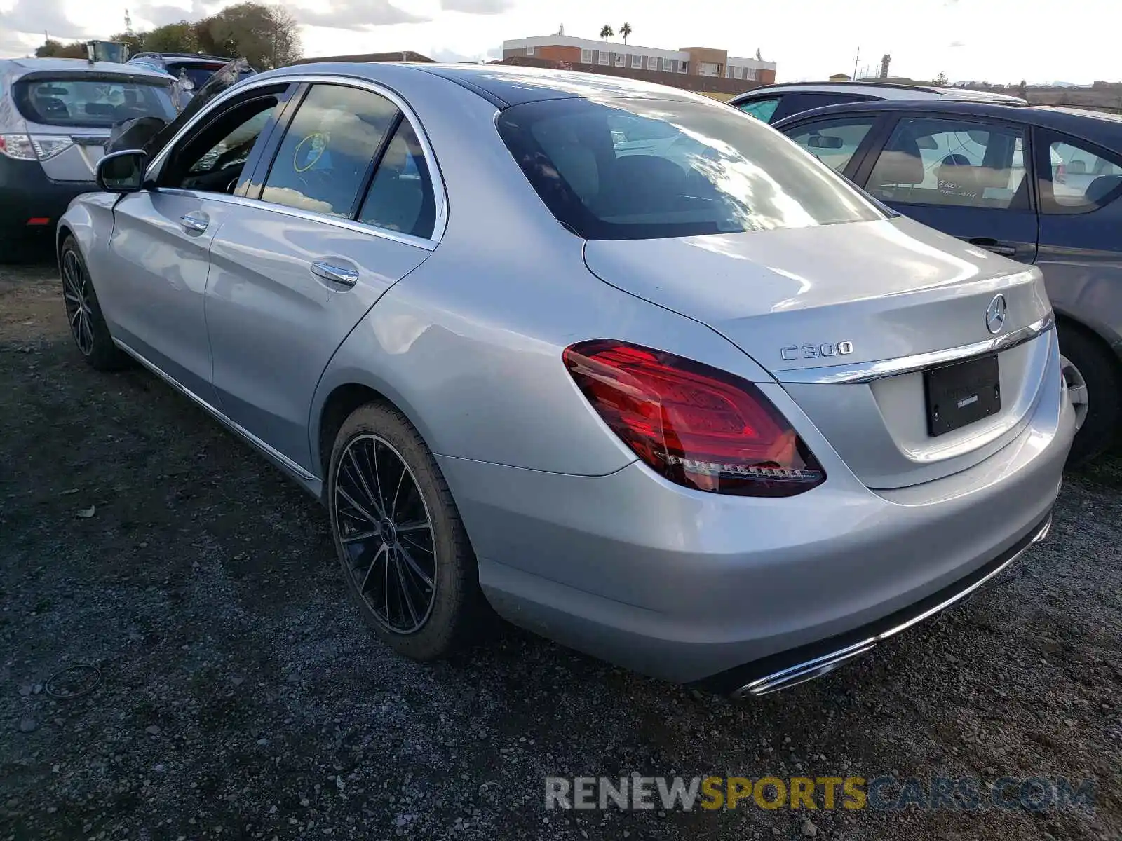
[[435, 459], [396, 408], [357, 408], [328, 473], [331, 534], [366, 622], [398, 654], [434, 660], [486, 617], [467, 532]]

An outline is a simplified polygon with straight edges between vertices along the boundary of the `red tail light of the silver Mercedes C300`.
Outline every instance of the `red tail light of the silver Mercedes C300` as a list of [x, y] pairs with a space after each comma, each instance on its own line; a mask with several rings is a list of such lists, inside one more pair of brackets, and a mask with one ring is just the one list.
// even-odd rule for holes
[[739, 377], [611, 340], [573, 344], [563, 359], [611, 431], [672, 482], [790, 497], [826, 480], [779, 410]]

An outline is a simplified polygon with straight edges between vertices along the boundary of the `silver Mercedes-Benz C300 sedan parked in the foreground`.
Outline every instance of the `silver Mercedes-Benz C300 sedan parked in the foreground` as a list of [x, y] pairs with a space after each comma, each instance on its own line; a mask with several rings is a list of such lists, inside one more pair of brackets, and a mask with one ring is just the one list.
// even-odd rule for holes
[[99, 177], [58, 227], [79, 350], [139, 361], [319, 497], [410, 657], [493, 609], [762, 694], [1048, 529], [1074, 419], [1040, 272], [720, 103], [302, 65]]

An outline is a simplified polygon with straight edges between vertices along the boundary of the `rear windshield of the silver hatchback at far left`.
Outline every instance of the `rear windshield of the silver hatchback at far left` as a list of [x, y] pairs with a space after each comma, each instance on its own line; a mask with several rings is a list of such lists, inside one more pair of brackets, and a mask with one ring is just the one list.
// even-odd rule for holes
[[111, 128], [136, 117], [175, 119], [168, 85], [135, 76], [37, 76], [17, 82], [13, 93], [24, 118], [45, 126]]

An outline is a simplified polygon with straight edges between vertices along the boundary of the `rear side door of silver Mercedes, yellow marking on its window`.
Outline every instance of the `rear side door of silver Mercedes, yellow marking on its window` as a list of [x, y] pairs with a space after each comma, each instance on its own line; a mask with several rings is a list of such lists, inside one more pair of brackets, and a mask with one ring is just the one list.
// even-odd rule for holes
[[305, 470], [320, 376], [439, 239], [443, 192], [422, 138], [389, 92], [312, 85], [211, 244], [206, 324], [222, 410]]

